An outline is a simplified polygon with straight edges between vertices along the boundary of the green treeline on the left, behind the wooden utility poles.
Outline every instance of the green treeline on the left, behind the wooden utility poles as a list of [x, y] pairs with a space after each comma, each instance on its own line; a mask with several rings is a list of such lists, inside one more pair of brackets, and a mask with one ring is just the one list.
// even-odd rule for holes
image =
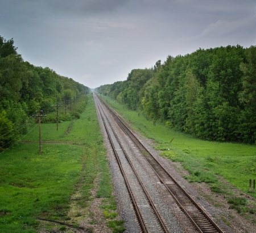
[[0, 151], [27, 133], [36, 110], [46, 114], [56, 102], [89, 91], [48, 67], [23, 61], [16, 50], [13, 39], [0, 36]]

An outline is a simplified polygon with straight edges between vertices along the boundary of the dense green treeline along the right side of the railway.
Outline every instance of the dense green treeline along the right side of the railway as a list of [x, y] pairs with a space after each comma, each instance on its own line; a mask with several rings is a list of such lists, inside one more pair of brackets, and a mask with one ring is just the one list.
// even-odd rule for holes
[[256, 142], [255, 46], [168, 56], [96, 91], [197, 138]]

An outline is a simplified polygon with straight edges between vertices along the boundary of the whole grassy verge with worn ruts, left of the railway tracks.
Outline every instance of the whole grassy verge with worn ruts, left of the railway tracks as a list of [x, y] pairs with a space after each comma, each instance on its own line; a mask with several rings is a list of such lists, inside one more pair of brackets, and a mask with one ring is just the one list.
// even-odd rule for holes
[[[35, 127], [23, 138], [24, 143], [0, 155], [0, 232], [36, 232], [39, 218], [79, 226], [79, 220], [90, 214], [90, 189], [96, 180], [96, 197], [105, 198], [102, 216], [116, 209], [92, 94], [80, 119], [59, 123], [58, 131], [55, 123], [42, 124], [42, 154], [38, 138]], [[79, 193], [76, 205], [80, 212], [72, 215], [69, 210], [75, 193]], [[48, 229], [53, 226], [49, 224]], [[123, 231], [123, 224], [110, 227]]]

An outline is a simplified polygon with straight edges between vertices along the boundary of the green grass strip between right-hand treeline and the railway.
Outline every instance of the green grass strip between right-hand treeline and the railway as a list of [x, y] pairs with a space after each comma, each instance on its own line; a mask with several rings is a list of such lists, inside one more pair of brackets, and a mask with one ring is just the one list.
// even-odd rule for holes
[[[256, 179], [256, 146], [238, 143], [208, 142], [176, 132], [163, 123], [138, 116], [138, 111], [128, 110], [117, 101], [104, 96], [133, 128], [147, 138], [154, 139], [155, 148], [172, 161], [179, 161], [190, 176], [189, 181], [207, 182], [216, 187], [219, 175], [243, 192], [249, 193], [249, 180]], [[175, 137], [175, 138], [174, 138]], [[172, 140], [174, 138], [174, 140]], [[170, 143], [170, 141], [172, 142]], [[170, 148], [170, 151], [168, 150]], [[256, 197], [255, 193], [249, 193]]]

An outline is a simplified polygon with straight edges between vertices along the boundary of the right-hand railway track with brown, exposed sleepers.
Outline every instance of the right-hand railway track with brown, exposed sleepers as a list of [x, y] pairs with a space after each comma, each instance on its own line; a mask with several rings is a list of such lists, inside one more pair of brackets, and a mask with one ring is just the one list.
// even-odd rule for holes
[[[95, 95], [97, 100], [100, 99]], [[115, 121], [122, 128], [123, 132], [131, 141], [135, 144], [137, 149], [141, 152], [141, 155], [148, 162], [150, 167], [154, 170], [156, 176], [158, 176], [160, 182], [166, 187], [168, 192], [175, 199], [177, 205], [184, 212], [185, 215], [189, 218], [192, 224], [197, 228], [199, 232], [208, 233], [208, 232], [221, 232], [221, 228], [214, 222], [214, 220], [209, 216], [209, 214], [197, 203], [191, 195], [189, 195], [183, 187], [171, 176], [170, 173], [163, 167], [163, 165], [147, 150], [146, 147], [139, 141], [139, 139], [126, 127], [121, 119], [109, 108], [109, 106], [100, 99], [100, 101], [105, 105], [112, 114]]]

